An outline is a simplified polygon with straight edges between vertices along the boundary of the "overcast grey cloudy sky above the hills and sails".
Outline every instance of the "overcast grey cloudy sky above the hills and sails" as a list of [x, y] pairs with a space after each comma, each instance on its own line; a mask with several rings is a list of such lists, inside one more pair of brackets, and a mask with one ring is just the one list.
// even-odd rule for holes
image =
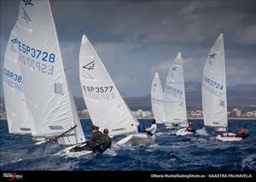
[[[0, 0], [0, 65], [19, 3]], [[82, 97], [79, 47], [83, 34], [124, 97], [150, 94], [154, 72], [164, 84], [180, 50], [185, 82], [201, 82], [207, 54], [224, 30], [228, 86], [256, 83], [256, 1], [50, 0], [73, 94]]]

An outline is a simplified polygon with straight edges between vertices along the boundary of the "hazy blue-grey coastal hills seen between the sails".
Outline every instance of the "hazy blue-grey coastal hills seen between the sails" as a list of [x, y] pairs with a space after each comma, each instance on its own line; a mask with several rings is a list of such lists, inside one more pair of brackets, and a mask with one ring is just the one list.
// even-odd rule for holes
[[[201, 110], [201, 83], [185, 82], [186, 104], [188, 111]], [[150, 94], [143, 97], [124, 98], [130, 106], [131, 111], [142, 109], [151, 110]], [[227, 88], [228, 111], [239, 108], [242, 111], [253, 111], [256, 109], [256, 85], [245, 84]], [[75, 97], [78, 110], [85, 107], [83, 98]]]

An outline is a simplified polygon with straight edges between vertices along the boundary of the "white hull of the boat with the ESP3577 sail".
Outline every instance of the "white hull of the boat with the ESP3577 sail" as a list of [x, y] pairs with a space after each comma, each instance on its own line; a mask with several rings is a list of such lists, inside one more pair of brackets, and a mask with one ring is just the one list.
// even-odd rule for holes
[[119, 140], [116, 145], [153, 145], [155, 136], [149, 134], [130, 134], [124, 139]]

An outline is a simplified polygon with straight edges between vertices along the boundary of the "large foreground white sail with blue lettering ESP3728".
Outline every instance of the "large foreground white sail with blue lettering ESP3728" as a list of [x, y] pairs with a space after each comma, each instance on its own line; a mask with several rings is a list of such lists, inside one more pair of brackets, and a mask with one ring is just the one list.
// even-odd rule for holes
[[73, 96], [67, 86], [49, 1], [20, 1], [14, 29], [26, 105], [35, 123], [32, 136], [57, 136], [77, 125], [58, 141], [64, 145], [84, 142]]

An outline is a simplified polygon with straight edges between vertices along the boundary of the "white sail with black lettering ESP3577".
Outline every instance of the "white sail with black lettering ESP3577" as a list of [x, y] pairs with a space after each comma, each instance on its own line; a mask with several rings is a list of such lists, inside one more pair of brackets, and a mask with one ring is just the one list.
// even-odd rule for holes
[[109, 135], [137, 132], [135, 117], [113, 84], [102, 60], [88, 38], [82, 37], [79, 54], [79, 77], [84, 101], [90, 119], [101, 130], [108, 128]]

